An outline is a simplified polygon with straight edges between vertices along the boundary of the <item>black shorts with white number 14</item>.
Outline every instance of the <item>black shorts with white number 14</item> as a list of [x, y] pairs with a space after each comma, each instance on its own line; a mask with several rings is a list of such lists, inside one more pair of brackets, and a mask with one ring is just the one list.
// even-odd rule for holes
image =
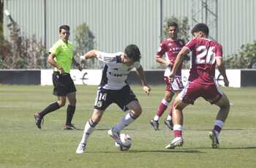
[[94, 109], [104, 111], [110, 104], [116, 103], [121, 110], [126, 111], [128, 110], [126, 105], [134, 100], [138, 101], [129, 85], [125, 85], [120, 90], [107, 90], [99, 87], [94, 102]]

